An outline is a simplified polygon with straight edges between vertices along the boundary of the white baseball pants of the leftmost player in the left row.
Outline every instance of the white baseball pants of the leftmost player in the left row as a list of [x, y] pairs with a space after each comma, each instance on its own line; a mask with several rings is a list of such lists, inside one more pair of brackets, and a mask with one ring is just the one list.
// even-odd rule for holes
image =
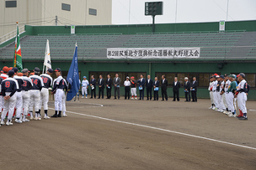
[[[11, 92], [7, 92], [6, 95], [10, 95]], [[16, 105], [16, 93], [14, 93], [14, 95], [9, 98], [8, 100], [3, 100], [3, 113], [1, 116], [1, 120], [3, 121], [7, 115], [8, 112], [8, 121], [11, 121], [13, 118], [13, 111], [14, 111], [14, 107]]]

